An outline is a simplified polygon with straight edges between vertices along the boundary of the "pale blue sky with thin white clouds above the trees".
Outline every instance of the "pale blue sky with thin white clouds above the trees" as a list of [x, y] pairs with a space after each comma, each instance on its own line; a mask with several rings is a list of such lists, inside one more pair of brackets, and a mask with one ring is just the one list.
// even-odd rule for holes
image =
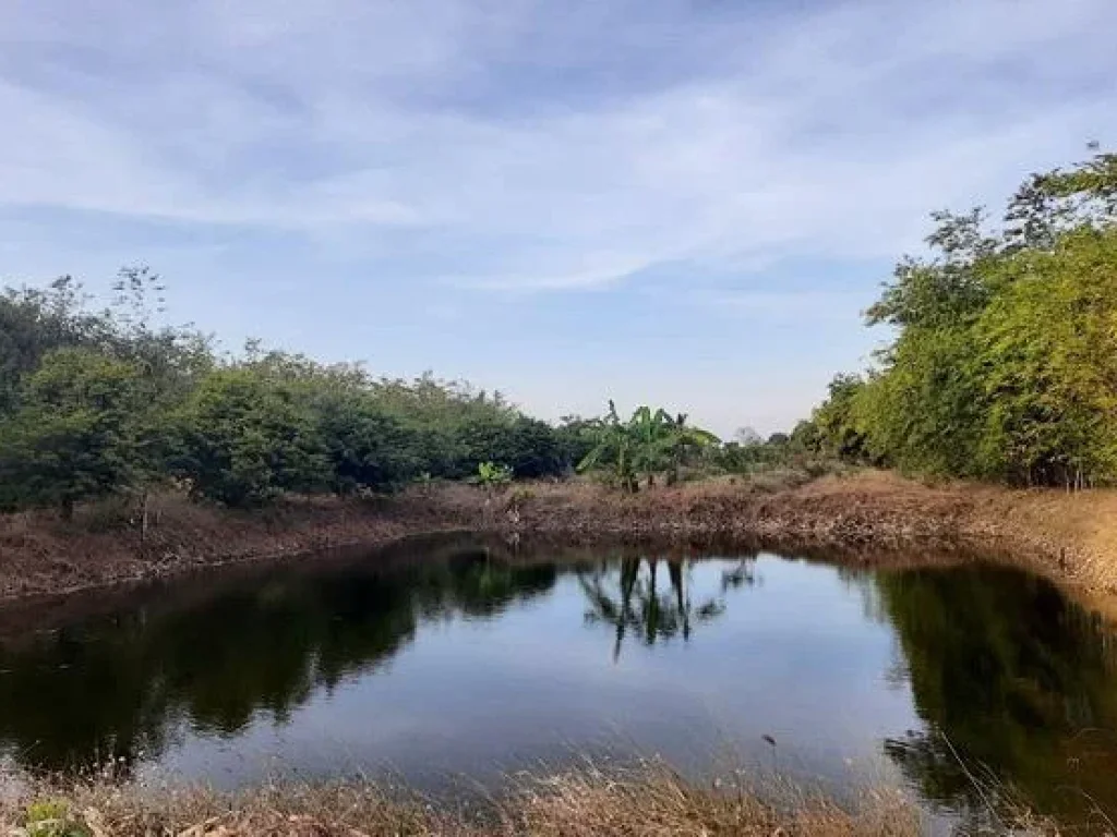
[[804, 417], [932, 210], [1117, 136], [1115, 0], [0, 0], [0, 281], [546, 419]]

